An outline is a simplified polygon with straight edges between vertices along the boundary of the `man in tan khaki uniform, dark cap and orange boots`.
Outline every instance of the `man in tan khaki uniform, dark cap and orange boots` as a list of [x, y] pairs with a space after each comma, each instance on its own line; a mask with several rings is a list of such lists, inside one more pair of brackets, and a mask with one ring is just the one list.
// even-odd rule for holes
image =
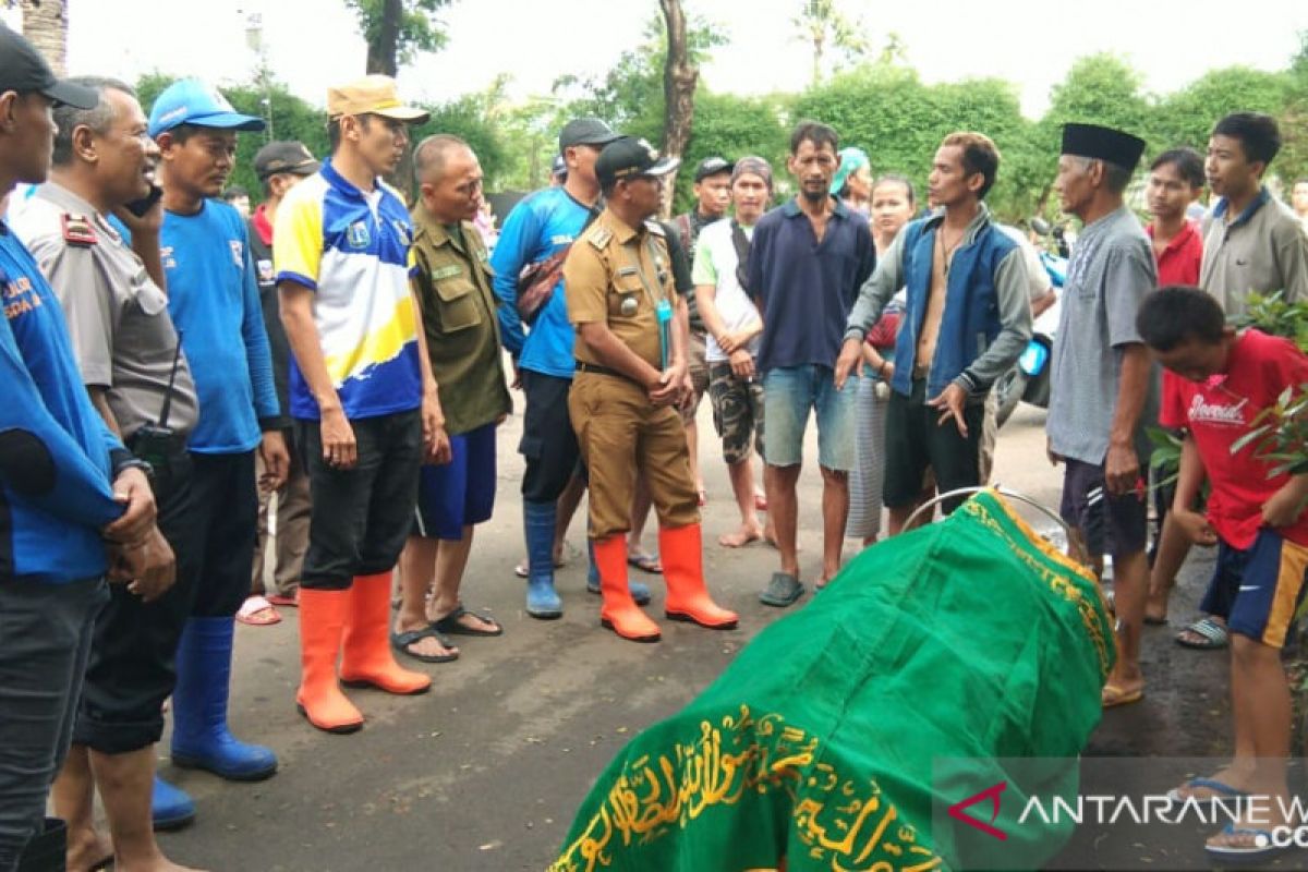
[[624, 136], [595, 161], [607, 207], [564, 265], [568, 319], [577, 328], [577, 374], [568, 411], [590, 472], [590, 537], [599, 567], [600, 621], [620, 637], [657, 642], [654, 624], [627, 586], [627, 532], [636, 476], [659, 519], [667, 617], [712, 629], [736, 625], [704, 586], [700, 511], [685, 430], [676, 413], [685, 380], [685, 301], [678, 299], [658, 212], [658, 158]]

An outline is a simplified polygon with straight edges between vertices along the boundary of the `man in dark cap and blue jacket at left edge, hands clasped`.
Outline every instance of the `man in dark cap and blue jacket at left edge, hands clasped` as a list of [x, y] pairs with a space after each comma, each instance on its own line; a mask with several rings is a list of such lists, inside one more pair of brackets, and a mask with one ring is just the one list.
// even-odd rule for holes
[[[58, 81], [26, 39], [0, 26], [0, 115], [9, 119], [0, 191], [44, 180], [56, 102], [90, 109], [97, 95]], [[92, 407], [59, 301], [3, 222], [0, 286], [0, 872], [12, 872], [25, 850], [63, 845], [61, 825], [42, 814], [109, 596], [109, 558], [114, 577], [132, 579], [128, 590], [145, 599], [171, 586], [174, 565], [154, 527], [145, 464]]]

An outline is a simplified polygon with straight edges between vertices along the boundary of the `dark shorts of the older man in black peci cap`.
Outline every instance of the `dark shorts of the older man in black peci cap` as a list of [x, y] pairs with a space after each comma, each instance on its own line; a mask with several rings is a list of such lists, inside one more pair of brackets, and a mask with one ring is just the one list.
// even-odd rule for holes
[[1071, 458], [1063, 463], [1066, 472], [1061, 514], [1063, 520], [1080, 529], [1091, 556], [1133, 554], [1142, 550], [1148, 532], [1144, 494], [1109, 495], [1103, 465]]

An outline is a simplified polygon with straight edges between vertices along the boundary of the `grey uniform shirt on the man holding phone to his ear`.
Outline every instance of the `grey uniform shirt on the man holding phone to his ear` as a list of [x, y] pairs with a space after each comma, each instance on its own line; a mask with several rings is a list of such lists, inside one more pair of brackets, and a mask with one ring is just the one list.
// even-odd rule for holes
[[199, 420], [195, 382], [167, 295], [105, 216], [72, 191], [47, 182], [13, 224], [59, 297], [73, 354], [88, 387], [106, 388], [123, 437], [158, 424], [177, 360], [167, 426], [184, 444]]

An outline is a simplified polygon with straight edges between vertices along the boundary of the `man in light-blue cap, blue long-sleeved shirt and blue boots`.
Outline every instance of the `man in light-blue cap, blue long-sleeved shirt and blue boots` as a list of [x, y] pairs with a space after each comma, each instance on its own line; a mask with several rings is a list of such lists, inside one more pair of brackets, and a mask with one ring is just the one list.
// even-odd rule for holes
[[194, 78], [165, 89], [149, 118], [160, 148], [169, 314], [200, 403], [187, 442], [200, 531], [192, 541], [198, 578], [177, 651], [173, 762], [230, 780], [256, 780], [277, 769], [272, 750], [238, 741], [228, 729], [235, 613], [250, 590], [258, 531], [255, 450], [268, 489], [281, 486], [289, 465], [249, 231], [218, 199], [237, 131], [263, 126]]

